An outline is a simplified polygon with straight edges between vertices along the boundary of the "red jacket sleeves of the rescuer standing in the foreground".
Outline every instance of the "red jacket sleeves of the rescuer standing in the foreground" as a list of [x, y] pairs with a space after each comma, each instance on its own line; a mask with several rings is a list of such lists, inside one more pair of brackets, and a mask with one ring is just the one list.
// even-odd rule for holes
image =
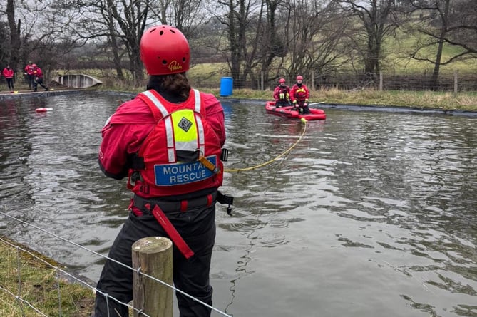
[[[192, 92], [191, 92], [192, 94]], [[200, 93], [205, 107], [205, 119], [220, 140], [225, 143], [225, 118], [222, 105], [214, 95]], [[190, 98], [192, 98], [190, 96]], [[118, 107], [101, 133], [98, 162], [104, 174], [117, 180], [128, 176], [131, 157], [140, 150], [145, 137], [155, 128], [156, 121], [149, 106], [136, 97]]]

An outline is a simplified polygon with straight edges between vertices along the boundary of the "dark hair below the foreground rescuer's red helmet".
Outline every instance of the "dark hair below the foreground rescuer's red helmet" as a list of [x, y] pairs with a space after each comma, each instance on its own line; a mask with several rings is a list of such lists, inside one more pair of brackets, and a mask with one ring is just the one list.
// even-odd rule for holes
[[185, 73], [150, 76], [147, 89], [154, 89], [166, 100], [178, 103], [187, 100], [190, 84]]

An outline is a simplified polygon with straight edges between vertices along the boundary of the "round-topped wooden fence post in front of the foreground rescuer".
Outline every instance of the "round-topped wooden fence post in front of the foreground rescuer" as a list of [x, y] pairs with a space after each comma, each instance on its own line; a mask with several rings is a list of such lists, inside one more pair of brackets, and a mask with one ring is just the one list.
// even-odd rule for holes
[[[133, 306], [148, 316], [173, 317], [173, 289], [138, 274], [173, 284], [173, 243], [165, 237], [147, 237], [133, 244]], [[134, 311], [134, 317], [143, 316]]]

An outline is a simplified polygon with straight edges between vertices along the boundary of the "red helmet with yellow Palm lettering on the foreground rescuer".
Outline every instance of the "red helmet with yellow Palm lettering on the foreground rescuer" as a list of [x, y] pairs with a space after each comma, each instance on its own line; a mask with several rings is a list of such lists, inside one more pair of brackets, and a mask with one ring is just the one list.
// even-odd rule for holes
[[172, 26], [152, 26], [140, 38], [140, 59], [149, 75], [168, 75], [189, 70], [187, 38]]

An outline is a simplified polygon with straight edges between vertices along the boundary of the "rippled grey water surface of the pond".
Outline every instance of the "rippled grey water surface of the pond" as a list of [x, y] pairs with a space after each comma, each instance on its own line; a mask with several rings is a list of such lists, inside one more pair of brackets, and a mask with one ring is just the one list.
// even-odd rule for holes
[[[116, 96], [0, 102], [0, 203], [107, 254], [125, 180], [96, 155]], [[229, 162], [217, 204], [214, 306], [233, 316], [477, 316], [477, 121], [327, 109], [304, 129], [259, 103], [222, 103]], [[37, 114], [34, 108], [53, 108]], [[96, 281], [103, 260], [0, 217], [0, 234]], [[214, 313], [215, 314], [215, 313]], [[214, 316], [219, 316], [218, 314]]]

